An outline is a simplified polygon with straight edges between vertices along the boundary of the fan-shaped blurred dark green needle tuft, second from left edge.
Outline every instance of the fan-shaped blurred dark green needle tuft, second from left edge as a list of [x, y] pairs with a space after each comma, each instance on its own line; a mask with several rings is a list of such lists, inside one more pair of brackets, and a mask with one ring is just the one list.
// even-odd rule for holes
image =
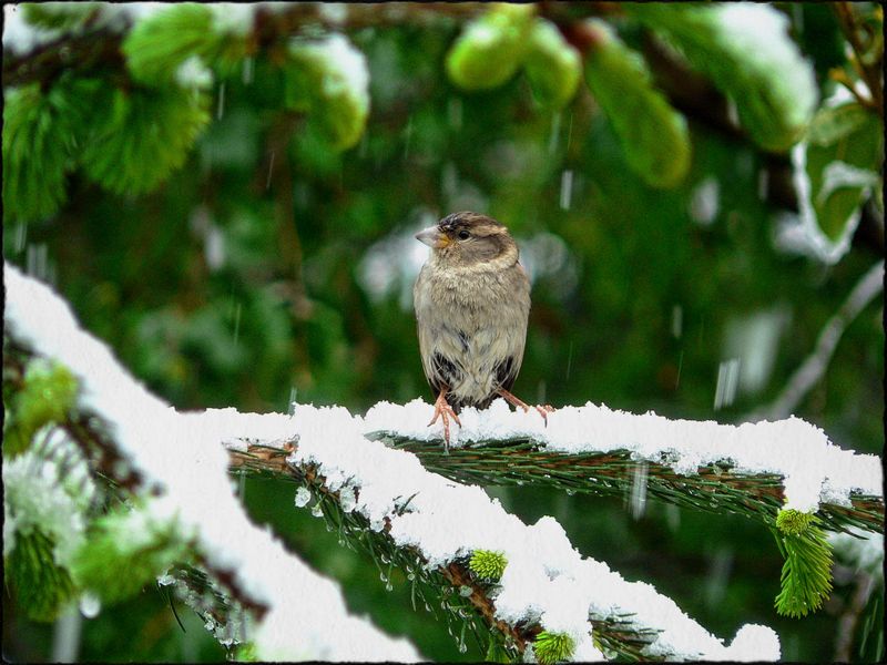
[[153, 190], [185, 162], [207, 106], [206, 95], [174, 86], [113, 91], [80, 154], [84, 173], [118, 194]]

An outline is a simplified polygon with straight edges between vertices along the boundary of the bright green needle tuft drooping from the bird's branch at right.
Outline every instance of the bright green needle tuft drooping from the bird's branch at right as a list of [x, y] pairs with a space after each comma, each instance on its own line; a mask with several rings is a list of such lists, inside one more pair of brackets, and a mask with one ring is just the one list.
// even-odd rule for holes
[[775, 606], [782, 616], [816, 612], [832, 592], [832, 546], [818, 522], [815, 515], [797, 511], [779, 511], [777, 516], [783, 533], [774, 534], [785, 563]]

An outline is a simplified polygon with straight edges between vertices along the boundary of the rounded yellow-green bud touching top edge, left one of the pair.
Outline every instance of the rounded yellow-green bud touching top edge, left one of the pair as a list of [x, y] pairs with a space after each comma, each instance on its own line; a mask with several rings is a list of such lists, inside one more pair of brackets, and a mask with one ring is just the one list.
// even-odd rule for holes
[[528, 48], [532, 4], [496, 3], [469, 22], [447, 53], [447, 74], [465, 90], [498, 88], [518, 71]]

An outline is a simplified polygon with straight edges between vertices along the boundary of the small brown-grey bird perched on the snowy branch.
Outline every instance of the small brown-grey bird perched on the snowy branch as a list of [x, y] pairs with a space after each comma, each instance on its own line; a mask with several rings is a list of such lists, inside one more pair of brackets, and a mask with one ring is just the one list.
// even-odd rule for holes
[[[486, 409], [503, 397], [524, 411], [509, 390], [518, 377], [530, 314], [530, 280], [518, 263], [508, 229], [478, 213], [453, 213], [416, 234], [431, 247], [412, 299], [422, 369], [437, 399], [434, 424], [459, 422], [462, 407]], [[536, 407], [547, 418], [551, 407]]]

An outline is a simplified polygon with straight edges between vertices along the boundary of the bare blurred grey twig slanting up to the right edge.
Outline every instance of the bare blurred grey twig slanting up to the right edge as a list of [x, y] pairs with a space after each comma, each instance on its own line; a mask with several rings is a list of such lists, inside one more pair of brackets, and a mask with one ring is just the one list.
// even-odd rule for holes
[[859, 316], [859, 313], [866, 308], [875, 296], [881, 293], [883, 288], [884, 262], [880, 260], [869, 268], [856, 286], [853, 287], [853, 290], [850, 290], [835, 316], [828, 319], [828, 323], [819, 332], [813, 354], [795, 370], [779, 396], [768, 407], [745, 416], [743, 420], [779, 420], [792, 413], [828, 369], [828, 364], [840, 341], [842, 335], [844, 335], [844, 330]]

